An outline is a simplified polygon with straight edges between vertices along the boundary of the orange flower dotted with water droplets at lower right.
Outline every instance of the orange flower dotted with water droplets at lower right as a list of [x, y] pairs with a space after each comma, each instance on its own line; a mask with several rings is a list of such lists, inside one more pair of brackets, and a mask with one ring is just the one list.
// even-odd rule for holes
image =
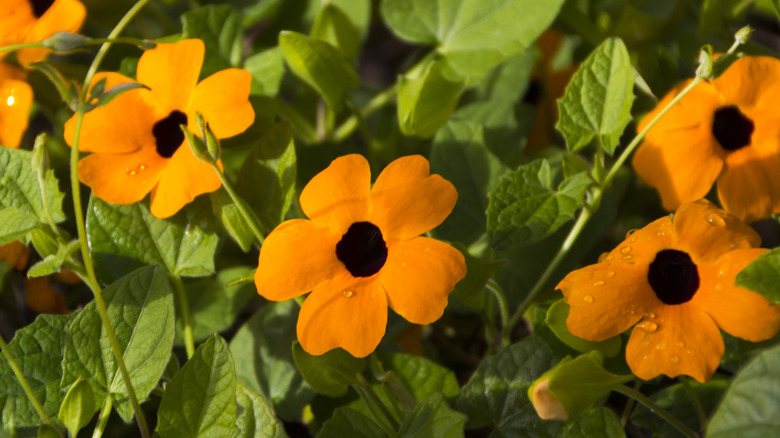
[[[626, 236], [595, 265], [556, 286], [571, 310], [569, 331], [603, 341], [636, 324], [626, 360], [639, 378], [712, 377], [724, 352], [719, 328], [749, 341], [780, 329], [780, 307], [734, 285], [766, 249], [758, 235], [708, 201], [683, 204]], [[638, 323], [638, 324], [637, 324]]]

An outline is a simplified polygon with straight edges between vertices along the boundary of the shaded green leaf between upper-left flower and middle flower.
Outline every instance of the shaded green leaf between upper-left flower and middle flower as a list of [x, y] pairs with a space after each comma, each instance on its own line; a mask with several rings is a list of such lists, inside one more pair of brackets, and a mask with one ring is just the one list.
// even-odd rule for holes
[[279, 123], [252, 147], [236, 179], [236, 192], [260, 219], [266, 235], [290, 209], [296, 173], [292, 129], [289, 123]]

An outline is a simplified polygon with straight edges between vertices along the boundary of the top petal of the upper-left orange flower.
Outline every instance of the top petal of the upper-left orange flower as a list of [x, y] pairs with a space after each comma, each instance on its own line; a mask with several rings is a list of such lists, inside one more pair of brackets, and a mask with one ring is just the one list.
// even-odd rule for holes
[[177, 43], [157, 44], [138, 61], [138, 82], [151, 88], [149, 106], [155, 117], [167, 117], [173, 110], [187, 108], [195, 89], [206, 51], [203, 41], [186, 39]]

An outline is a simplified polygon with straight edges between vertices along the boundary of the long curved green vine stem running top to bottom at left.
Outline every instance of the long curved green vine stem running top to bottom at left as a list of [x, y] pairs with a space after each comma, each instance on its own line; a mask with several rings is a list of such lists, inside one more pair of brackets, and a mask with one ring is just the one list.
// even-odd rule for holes
[[89, 244], [87, 242], [86, 227], [84, 226], [84, 215], [81, 207], [81, 192], [78, 176], [78, 162], [79, 162], [79, 139], [81, 134], [81, 125], [84, 121], [84, 114], [87, 108], [87, 92], [92, 83], [92, 78], [95, 76], [97, 69], [100, 67], [100, 63], [111, 47], [111, 41], [115, 39], [132, 18], [148, 3], [149, 0], [139, 0], [133, 5], [130, 10], [119, 20], [116, 27], [108, 35], [107, 42], [100, 46], [100, 49], [95, 55], [95, 59], [92, 60], [92, 64], [89, 66], [87, 75], [84, 78], [84, 89], [81, 93], [78, 103], [78, 111], [76, 112], [76, 131], [73, 138], [73, 145], [70, 151], [70, 180], [71, 180], [71, 192], [73, 193], [73, 209], [76, 219], [76, 228], [78, 230], [79, 242], [81, 244], [81, 256], [84, 260], [84, 268], [88, 277], [88, 284], [92, 289], [95, 296], [95, 305], [97, 306], [98, 313], [100, 314], [100, 320], [103, 323], [103, 328], [106, 330], [106, 336], [111, 344], [111, 350], [116, 358], [117, 367], [122, 375], [125, 387], [127, 388], [127, 396], [130, 399], [130, 404], [133, 407], [133, 413], [135, 414], [136, 421], [138, 422], [138, 428], [141, 432], [142, 438], [149, 436], [149, 428], [146, 425], [146, 417], [144, 417], [143, 411], [141, 411], [141, 405], [138, 403], [138, 397], [136, 397], [135, 389], [130, 381], [130, 374], [127, 372], [127, 366], [125, 365], [122, 347], [119, 345], [119, 340], [114, 333], [114, 327], [111, 325], [111, 321], [108, 318], [108, 311], [106, 309], [106, 303], [103, 300], [103, 294], [100, 289], [100, 284], [95, 276], [95, 268], [92, 263], [92, 257], [89, 254]]

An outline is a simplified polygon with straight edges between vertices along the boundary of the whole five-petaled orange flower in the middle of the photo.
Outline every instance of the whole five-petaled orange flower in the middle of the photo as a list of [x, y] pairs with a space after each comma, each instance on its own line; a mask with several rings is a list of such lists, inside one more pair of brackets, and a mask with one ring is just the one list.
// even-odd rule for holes
[[301, 193], [310, 220], [286, 221], [266, 238], [257, 291], [273, 301], [312, 291], [298, 316], [303, 349], [319, 355], [341, 347], [365, 357], [385, 333], [388, 306], [430, 324], [465, 277], [458, 250], [420, 237], [444, 221], [457, 197], [419, 155], [390, 163], [373, 188], [365, 158], [338, 158]]

